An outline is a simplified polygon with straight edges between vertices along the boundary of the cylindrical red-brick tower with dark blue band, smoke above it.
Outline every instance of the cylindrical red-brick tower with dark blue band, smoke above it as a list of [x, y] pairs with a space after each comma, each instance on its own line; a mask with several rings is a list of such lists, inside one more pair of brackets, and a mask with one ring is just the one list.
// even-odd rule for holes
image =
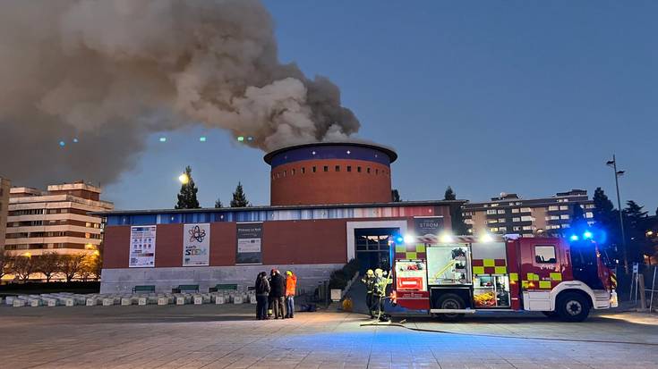
[[321, 142], [265, 155], [271, 166], [271, 205], [365, 204], [391, 201], [388, 147]]

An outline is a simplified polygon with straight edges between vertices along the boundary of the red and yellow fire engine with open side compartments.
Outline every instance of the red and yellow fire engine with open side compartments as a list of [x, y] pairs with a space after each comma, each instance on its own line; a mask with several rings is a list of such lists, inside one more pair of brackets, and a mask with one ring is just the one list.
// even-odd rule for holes
[[568, 239], [428, 234], [392, 246], [391, 302], [443, 320], [539, 311], [581, 322], [592, 308], [618, 304], [615, 275], [593, 231]]

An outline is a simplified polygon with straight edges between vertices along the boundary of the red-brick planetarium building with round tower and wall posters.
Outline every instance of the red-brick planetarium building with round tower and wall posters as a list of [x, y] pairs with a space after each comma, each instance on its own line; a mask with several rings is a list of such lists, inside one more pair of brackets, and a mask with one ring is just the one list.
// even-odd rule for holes
[[[312, 288], [350, 259], [386, 266], [393, 240], [421, 223], [449, 230], [449, 201], [391, 202], [396, 152], [372, 143], [324, 142], [265, 155], [270, 204], [138, 210], [107, 217], [101, 292], [180, 284], [251, 286], [257, 273], [291, 269]], [[391, 249], [394, 247], [395, 249]]]

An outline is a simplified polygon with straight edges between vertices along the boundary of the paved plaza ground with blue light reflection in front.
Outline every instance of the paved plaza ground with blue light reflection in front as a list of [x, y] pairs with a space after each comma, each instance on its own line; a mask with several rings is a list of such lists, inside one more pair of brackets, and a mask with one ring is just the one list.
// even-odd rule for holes
[[[0, 307], [2, 368], [651, 368], [655, 315], [585, 323], [541, 314], [461, 323], [298, 313], [261, 322], [254, 306]], [[395, 318], [399, 322], [400, 318]], [[405, 328], [406, 327], [406, 328]], [[416, 330], [416, 331], [414, 331]]]

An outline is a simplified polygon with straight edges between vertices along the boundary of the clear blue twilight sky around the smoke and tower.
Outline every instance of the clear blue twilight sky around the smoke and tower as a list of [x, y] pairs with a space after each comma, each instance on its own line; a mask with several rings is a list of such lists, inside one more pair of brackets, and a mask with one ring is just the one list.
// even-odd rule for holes
[[[603, 1], [266, 1], [279, 57], [328, 76], [362, 122], [396, 148], [403, 200], [540, 197], [597, 186], [658, 206], [658, 3]], [[206, 136], [206, 142], [199, 137]], [[269, 204], [261, 151], [220, 130], [149, 138], [105, 188], [117, 209], [168, 208], [186, 164], [201, 205], [227, 205], [238, 180]]]

